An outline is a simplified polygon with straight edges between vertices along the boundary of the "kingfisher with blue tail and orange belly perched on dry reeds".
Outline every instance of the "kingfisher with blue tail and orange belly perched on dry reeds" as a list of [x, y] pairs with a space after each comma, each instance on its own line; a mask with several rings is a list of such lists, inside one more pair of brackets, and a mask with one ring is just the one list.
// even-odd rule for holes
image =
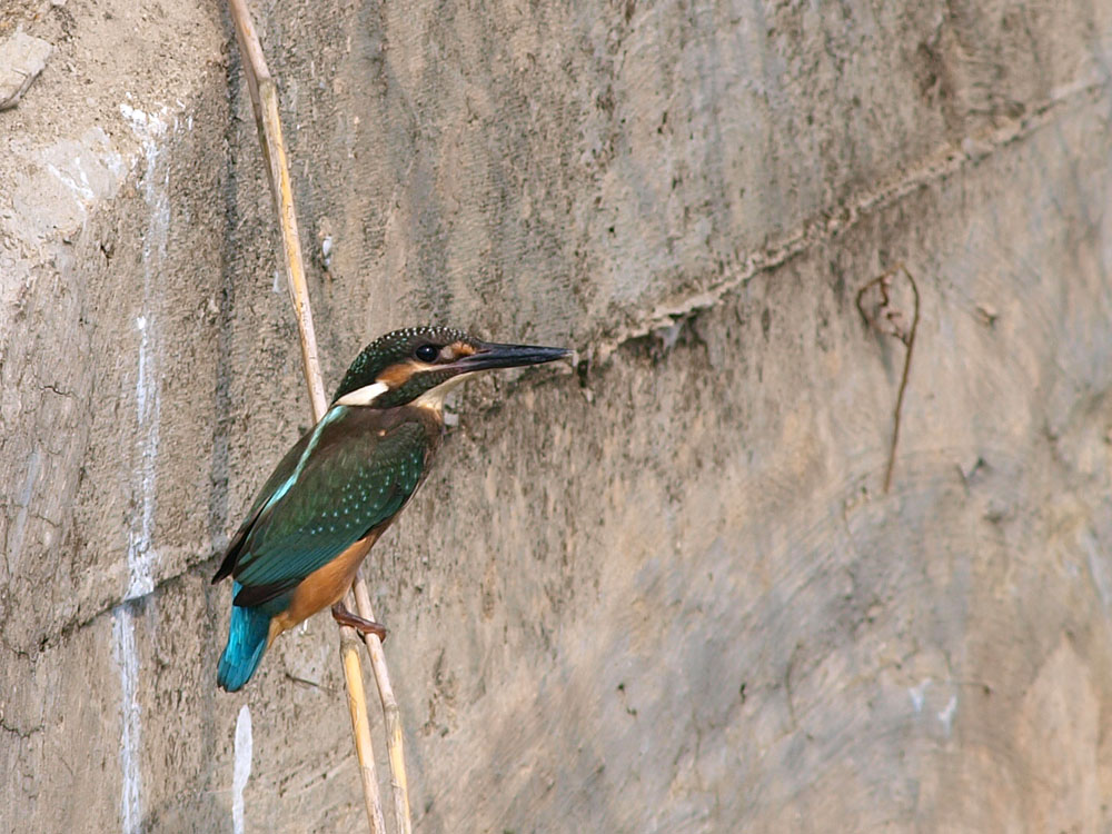
[[425, 480], [444, 436], [445, 396], [479, 371], [569, 353], [447, 327], [395, 330], [364, 348], [328, 410], [264, 484], [212, 577], [234, 579], [219, 686], [242, 687], [279, 634], [329, 606], [337, 622], [385, 637], [340, 599]]

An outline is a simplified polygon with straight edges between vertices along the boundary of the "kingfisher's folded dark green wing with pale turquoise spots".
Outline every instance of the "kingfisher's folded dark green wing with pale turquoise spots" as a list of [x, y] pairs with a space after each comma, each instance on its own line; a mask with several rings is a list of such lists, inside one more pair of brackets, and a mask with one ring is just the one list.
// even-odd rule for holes
[[357, 411], [326, 416], [290, 474], [271, 476], [231, 570], [244, 586], [238, 605], [294, 587], [389, 520], [417, 489], [429, 448], [425, 426], [353, 430], [351, 421], [366, 416]]

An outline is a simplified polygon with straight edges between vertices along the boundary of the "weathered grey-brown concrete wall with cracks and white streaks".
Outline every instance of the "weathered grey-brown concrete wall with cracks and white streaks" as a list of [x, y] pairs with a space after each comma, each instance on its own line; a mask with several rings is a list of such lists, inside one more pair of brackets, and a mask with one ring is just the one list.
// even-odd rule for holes
[[[426, 320], [584, 360], [467, 389], [368, 562], [418, 830], [1112, 826], [1112, 6], [257, 13], [329, 384]], [[308, 413], [220, 4], [17, 24], [0, 830], [230, 830], [245, 704], [246, 830], [359, 830], [330, 620], [215, 689]]]

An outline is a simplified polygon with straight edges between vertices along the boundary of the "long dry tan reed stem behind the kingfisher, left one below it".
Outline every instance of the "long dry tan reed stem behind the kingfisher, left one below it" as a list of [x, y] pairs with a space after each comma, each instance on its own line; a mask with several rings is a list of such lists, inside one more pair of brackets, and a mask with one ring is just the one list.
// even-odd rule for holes
[[[305, 266], [301, 260], [301, 241], [294, 211], [294, 191], [290, 186], [289, 166], [286, 160], [286, 145], [281, 135], [278, 112], [278, 90], [267, 68], [262, 44], [251, 21], [245, 0], [228, 0], [231, 20], [236, 29], [236, 41], [244, 57], [244, 73], [251, 95], [251, 109], [259, 132], [259, 145], [270, 179], [270, 192], [278, 211], [281, 227], [282, 264], [286, 267], [286, 286], [297, 318], [301, 344], [301, 366], [309, 388], [312, 416], [319, 420], [327, 407], [320, 361], [317, 355], [317, 339], [312, 328], [312, 312], [309, 292], [305, 282]], [[356, 756], [364, 787], [367, 821], [373, 834], [385, 834], [381, 797], [378, 777], [375, 773], [375, 753], [370, 738], [370, 722], [367, 715], [367, 697], [363, 687], [363, 664], [356, 651], [358, 636], [354, 628], [340, 626], [340, 656], [344, 678], [347, 683], [348, 711], [351, 715], [351, 731], [355, 736]]]

